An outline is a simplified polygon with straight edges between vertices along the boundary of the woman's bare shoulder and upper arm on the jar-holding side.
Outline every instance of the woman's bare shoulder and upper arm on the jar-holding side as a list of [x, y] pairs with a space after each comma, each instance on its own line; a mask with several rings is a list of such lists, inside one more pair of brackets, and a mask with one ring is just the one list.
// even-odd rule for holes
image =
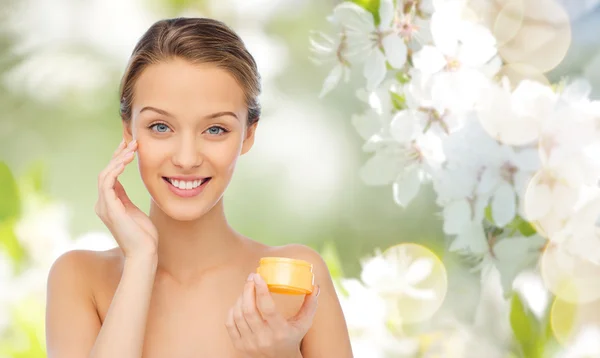
[[304, 245], [286, 245], [280, 249], [281, 256], [312, 263], [315, 287], [318, 285], [321, 289], [312, 326], [302, 340], [302, 357], [353, 357], [346, 320], [329, 269], [321, 255]]

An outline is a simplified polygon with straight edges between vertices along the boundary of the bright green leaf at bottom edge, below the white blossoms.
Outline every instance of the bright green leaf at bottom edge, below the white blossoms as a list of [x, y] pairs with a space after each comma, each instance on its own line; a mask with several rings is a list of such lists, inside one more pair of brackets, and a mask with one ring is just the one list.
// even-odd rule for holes
[[531, 312], [518, 293], [513, 293], [510, 304], [510, 326], [515, 339], [519, 343], [523, 357], [543, 357], [545, 339], [542, 327], [533, 312]]

